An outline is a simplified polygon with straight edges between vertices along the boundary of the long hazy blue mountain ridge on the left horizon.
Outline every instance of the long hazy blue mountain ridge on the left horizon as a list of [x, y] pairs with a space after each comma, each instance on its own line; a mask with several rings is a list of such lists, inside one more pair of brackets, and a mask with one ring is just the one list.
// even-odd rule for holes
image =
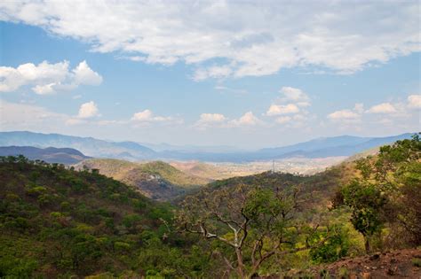
[[153, 159], [155, 151], [139, 143], [113, 143], [93, 137], [64, 136], [33, 132], [0, 132], [0, 146], [19, 145], [35, 147], [68, 147], [91, 157], [119, 159]]

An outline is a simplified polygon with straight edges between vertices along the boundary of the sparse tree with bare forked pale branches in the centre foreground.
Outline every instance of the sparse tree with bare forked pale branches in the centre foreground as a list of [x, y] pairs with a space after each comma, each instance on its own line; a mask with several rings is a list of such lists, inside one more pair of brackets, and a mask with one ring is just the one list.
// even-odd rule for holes
[[228, 269], [241, 278], [250, 278], [275, 254], [311, 248], [309, 239], [318, 225], [303, 224], [298, 214], [296, 189], [239, 185], [202, 190], [187, 197], [177, 221], [186, 232], [226, 244], [231, 251], [223, 256]]

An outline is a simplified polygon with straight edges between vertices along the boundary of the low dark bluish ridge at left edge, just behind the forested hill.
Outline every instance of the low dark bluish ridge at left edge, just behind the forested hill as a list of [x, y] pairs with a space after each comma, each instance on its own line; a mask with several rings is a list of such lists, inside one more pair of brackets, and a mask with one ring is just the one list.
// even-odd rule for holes
[[81, 151], [73, 148], [36, 148], [32, 146], [2, 146], [0, 147], [0, 156], [23, 155], [28, 159], [42, 159], [48, 163], [59, 163], [71, 165], [89, 159]]

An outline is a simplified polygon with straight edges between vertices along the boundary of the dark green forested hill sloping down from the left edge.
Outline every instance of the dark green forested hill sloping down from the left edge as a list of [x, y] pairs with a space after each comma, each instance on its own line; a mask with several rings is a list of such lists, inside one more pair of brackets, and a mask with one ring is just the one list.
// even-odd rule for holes
[[23, 157], [1, 158], [0, 182], [1, 278], [135, 278], [183, 268], [163, 221], [169, 205], [122, 182]]

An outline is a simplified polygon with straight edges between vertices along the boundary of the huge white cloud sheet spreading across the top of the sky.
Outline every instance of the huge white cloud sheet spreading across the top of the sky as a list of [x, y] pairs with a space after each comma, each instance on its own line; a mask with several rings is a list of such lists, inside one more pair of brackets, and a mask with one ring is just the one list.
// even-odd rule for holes
[[417, 1], [22, 0], [1, 2], [0, 20], [43, 27], [91, 43], [93, 51], [115, 51], [143, 63], [183, 61], [203, 80], [274, 74], [293, 66], [349, 74], [385, 63], [420, 50], [418, 6]]

